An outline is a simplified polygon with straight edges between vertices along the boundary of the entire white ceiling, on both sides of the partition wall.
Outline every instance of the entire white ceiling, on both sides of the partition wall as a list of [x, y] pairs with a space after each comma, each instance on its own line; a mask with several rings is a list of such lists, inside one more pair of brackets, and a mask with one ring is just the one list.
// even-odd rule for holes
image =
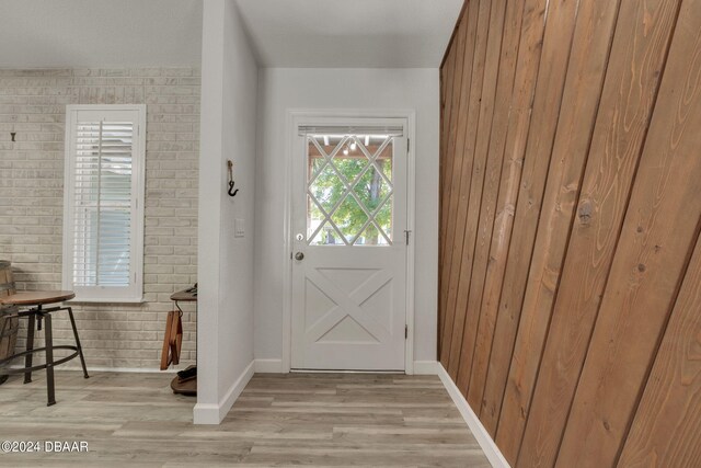
[[[262, 67], [434, 68], [463, 0], [235, 0]], [[0, 68], [198, 66], [203, 0], [0, 0]]]

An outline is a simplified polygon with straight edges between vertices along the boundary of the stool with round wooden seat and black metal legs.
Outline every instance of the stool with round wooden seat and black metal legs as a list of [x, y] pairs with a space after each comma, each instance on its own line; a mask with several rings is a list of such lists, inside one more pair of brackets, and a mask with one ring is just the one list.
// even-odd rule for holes
[[[26, 310], [20, 310], [14, 313], [14, 317], [26, 317], [28, 319], [27, 334], [26, 334], [26, 351], [22, 353], [15, 353], [2, 361], [0, 366], [9, 363], [10, 361], [24, 356], [24, 368], [21, 369], [7, 369], [4, 374], [24, 374], [24, 384], [32, 381], [32, 372], [46, 369], [46, 390], [47, 390], [47, 407], [56, 404], [55, 388], [54, 388], [54, 367], [67, 363], [68, 361], [80, 356], [80, 364], [83, 368], [83, 376], [89, 378], [88, 368], [85, 367], [85, 358], [83, 357], [83, 350], [80, 346], [80, 339], [78, 338], [78, 329], [76, 328], [76, 320], [73, 319], [73, 310], [70, 307], [55, 306], [45, 308], [44, 306], [50, 304], [62, 303], [76, 297], [72, 290], [42, 290], [42, 292], [24, 292], [15, 293], [7, 297], [0, 298], [0, 304], [10, 306], [28, 306]], [[70, 324], [73, 329], [73, 336], [76, 338], [76, 345], [60, 345], [54, 346], [54, 335], [51, 330], [51, 313], [59, 310], [67, 310], [70, 318]], [[36, 322], [36, 329], [42, 330], [42, 320], [45, 322], [45, 346], [34, 347], [34, 323]], [[74, 353], [62, 357], [58, 361], [54, 361], [54, 350], [69, 350]], [[32, 355], [34, 353], [46, 352], [46, 363], [32, 366]]]

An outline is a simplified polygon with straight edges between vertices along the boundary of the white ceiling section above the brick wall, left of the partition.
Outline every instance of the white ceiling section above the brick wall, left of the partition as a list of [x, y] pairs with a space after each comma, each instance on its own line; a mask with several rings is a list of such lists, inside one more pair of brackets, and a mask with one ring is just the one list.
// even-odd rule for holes
[[202, 0], [0, 0], [0, 67], [199, 66]]

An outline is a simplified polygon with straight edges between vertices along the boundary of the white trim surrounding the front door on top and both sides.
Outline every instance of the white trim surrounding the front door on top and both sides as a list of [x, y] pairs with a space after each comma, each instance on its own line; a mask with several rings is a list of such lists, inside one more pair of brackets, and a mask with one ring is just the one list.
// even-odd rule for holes
[[285, 134], [287, 144], [285, 148], [285, 219], [284, 219], [284, 258], [283, 265], [283, 373], [291, 369], [292, 354], [292, 161], [295, 160], [297, 128], [300, 125], [309, 125], [313, 121], [326, 118], [405, 118], [406, 137], [410, 140], [406, 165], [406, 226], [411, 231], [409, 247], [406, 249], [406, 326], [407, 334], [404, 343], [404, 373], [414, 374], [414, 256], [415, 256], [415, 212], [416, 212], [416, 158], [414, 156], [416, 112], [413, 110], [363, 110], [363, 109], [290, 109], [286, 112]]

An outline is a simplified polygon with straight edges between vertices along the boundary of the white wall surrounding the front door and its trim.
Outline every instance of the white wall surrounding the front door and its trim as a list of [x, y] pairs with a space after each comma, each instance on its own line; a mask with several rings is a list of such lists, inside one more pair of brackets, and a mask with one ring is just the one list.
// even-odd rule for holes
[[[203, 85], [204, 88], [204, 85]], [[415, 361], [436, 358], [438, 270], [437, 69], [260, 71], [255, 192], [255, 358], [283, 356], [286, 113], [290, 109], [416, 112]], [[289, 254], [289, 253], [287, 253]], [[204, 259], [203, 259], [203, 263]], [[274, 368], [274, 366], [272, 366]]]

